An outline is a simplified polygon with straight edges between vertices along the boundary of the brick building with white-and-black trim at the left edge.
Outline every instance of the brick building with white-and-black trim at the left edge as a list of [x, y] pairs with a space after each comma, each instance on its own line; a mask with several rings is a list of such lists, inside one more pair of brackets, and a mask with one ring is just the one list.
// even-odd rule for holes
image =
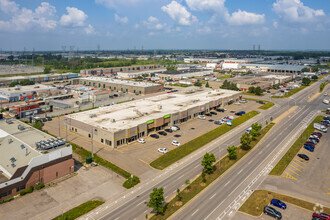
[[0, 120], [0, 199], [74, 172], [72, 147], [14, 119]]

